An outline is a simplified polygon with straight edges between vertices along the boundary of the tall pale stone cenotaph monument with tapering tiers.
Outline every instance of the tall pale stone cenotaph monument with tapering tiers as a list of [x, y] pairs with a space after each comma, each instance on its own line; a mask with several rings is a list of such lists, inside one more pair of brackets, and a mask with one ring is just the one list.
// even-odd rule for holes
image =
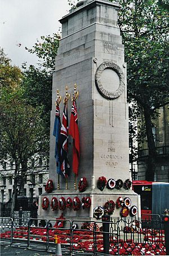
[[[60, 23], [62, 33], [56, 56], [53, 76], [51, 135], [50, 135], [50, 171], [49, 179], [54, 183], [51, 193], [41, 195], [39, 205], [44, 197], [49, 202], [56, 197], [90, 198], [88, 208], [81, 206], [78, 210], [65, 208], [43, 210], [39, 207], [39, 218], [54, 219], [63, 213], [66, 219], [95, 220], [95, 210], [103, 208], [106, 202], [129, 198], [127, 206], [134, 206], [134, 215], [140, 217], [140, 197], [122, 182], [131, 180], [129, 170], [128, 147], [128, 104], [126, 88], [126, 63], [124, 46], [118, 27], [116, 2], [107, 0], [86, 0], [78, 3], [77, 8], [70, 10]], [[73, 140], [69, 137], [68, 158], [70, 175], [67, 179], [56, 173], [55, 136], [55, 101], [57, 89], [62, 96], [60, 116], [63, 115], [65, 87], [68, 86], [68, 115], [70, 118], [74, 93], [74, 84], [79, 92], [77, 98], [78, 128], [80, 140], [80, 157], [77, 181], [72, 171]], [[70, 121], [70, 120], [69, 120]], [[108, 187], [98, 188], [99, 177], [109, 181]], [[86, 190], [79, 192], [78, 183], [87, 180]], [[117, 182], [118, 180], [118, 182]], [[82, 181], [82, 182], [81, 182]], [[114, 187], [114, 181], [117, 182]], [[58, 184], [59, 182], [59, 184]], [[77, 184], [76, 184], [77, 183]], [[126, 183], [125, 183], [126, 184]], [[128, 183], [127, 183], [128, 184]], [[61, 200], [60, 200], [61, 201]], [[61, 202], [63, 203], [63, 202]], [[121, 216], [122, 205], [115, 206], [111, 217]], [[82, 204], [82, 201], [81, 201]], [[110, 207], [111, 208], [111, 207]], [[130, 217], [130, 213], [127, 214]], [[100, 216], [98, 217], [100, 218]]]

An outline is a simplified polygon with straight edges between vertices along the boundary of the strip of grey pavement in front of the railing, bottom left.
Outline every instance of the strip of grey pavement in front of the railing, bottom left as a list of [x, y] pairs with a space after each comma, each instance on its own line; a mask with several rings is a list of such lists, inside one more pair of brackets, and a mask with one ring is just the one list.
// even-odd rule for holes
[[11, 246], [1, 245], [1, 256], [38, 256], [38, 255], [46, 255], [46, 256], [54, 256], [53, 253], [47, 253], [46, 251], [35, 251], [28, 250], [23, 248], [15, 248]]

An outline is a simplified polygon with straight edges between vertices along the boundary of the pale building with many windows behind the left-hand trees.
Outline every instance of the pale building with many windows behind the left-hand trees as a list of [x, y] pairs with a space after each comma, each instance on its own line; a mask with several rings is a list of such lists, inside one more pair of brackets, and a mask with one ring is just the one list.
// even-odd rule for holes
[[[12, 191], [14, 185], [14, 171], [15, 166], [12, 162], [3, 162], [0, 166], [0, 201], [1, 201], [1, 214], [6, 211], [6, 214], [10, 214], [10, 205], [12, 198]], [[48, 166], [43, 165], [43, 161], [39, 158], [38, 166], [29, 169], [29, 173], [26, 176], [26, 183], [24, 186], [24, 195], [28, 198], [28, 208], [33, 201], [38, 201], [39, 195], [45, 192], [45, 186], [48, 180]], [[19, 188], [19, 186], [18, 186]], [[20, 196], [20, 193], [19, 195]], [[17, 204], [16, 204], [17, 208]], [[18, 209], [16, 209], [18, 210]]]

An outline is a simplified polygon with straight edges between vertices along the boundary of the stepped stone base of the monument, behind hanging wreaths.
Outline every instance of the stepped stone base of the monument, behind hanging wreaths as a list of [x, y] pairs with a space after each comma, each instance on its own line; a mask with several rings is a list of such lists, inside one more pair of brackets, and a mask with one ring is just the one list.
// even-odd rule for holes
[[[43, 197], [47, 197], [50, 204], [47, 208], [47, 210], [43, 210], [41, 205], [42, 205], [42, 200]], [[74, 197], [78, 197], [79, 200], [81, 201], [81, 207], [79, 210], [74, 210], [73, 207], [65, 208], [64, 210], [60, 210], [59, 207], [57, 210], [52, 210], [51, 209], [51, 200], [52, 197], [56, 197], [57, 201], [59, 202], [61, 197], [64, 197], [65, 200], [70, 197], [72, 201], [74, 200]], [[90, 208], [82, 208], [82, 198], [83, 197], [90, 197], [91, 198], [91, 206]], [[133, 190], [131, 189], [104, 189], [104, 191], [100, 191], [98, 188], [95, 189], [86, 189], [84, 192], [79, 192], [78, 189], [65, 189], [64, 190], [55, 190], [52, 191], [52, 193], [45, 193], [41, 196], [39, 196], [39, 210], [38, 210], [38, 218], [42, 219], [56, 219], [61, 216], [63, 213], [63, 216], [65, 219], [69, 220], [82, 220], [82, 222], [90, 221], [90, 220], [95, 220], [97, 221], [98, 219], [94, 217], [94, 209], [97, 208], [98, 206], [101, 206], [102, 208], [104, 207], [104, 204], [110, 200], [113, 200], [114, 203], [116, 204], [118, 197], [122, 197], [123, 200], [124, 198], [128, 197], [131, 200], [131, 206], [129, 206], [129, 209], [131, 209], [132, 206], [137, 207], [137, 214], [136, 218], [141, 217], [141, 208], [140, 208], [140, 196], [137, 195]], [[113, 214], [110, 215], [110, 217], [114, 218], [121, 218], [121, 210], [122, 208], [117, 208], [115, 205], [115, 209], [113, 211]], [[131, 214], [129, 213], [126, 218], [131, 218]], [[101, 219], [101, 218], [100, 218]]]

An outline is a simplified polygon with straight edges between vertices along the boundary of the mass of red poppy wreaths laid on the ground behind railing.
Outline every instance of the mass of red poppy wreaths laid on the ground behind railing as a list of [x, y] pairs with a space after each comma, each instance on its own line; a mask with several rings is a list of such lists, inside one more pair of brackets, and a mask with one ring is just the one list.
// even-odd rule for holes
[[[30, 240], [47, 241], [54, 243], [54, 236], [57, 233], [60, 237], [60, 242], [63, 244], [70, 243], [70, 229], [64, 228], [65, 218], [63, 214], [56, 219], [57, 224], [55, 228], [37, 228], [37, 227], [19, 227], [15, 231], [1, 232], [1, 239], [3, 241], [9, 241], [11, 235], [15, 239], [28, 240], [28, 233], [30, 234]], [[125, 226], [121, 233], [121, 239], [113, 236], [110, 240], [109, 254], [110, 255], [166, 255], [164, 230], [154, 228], [141, 228], [141, 223], [138, 220], [128, 222], [129, 226]], [[73, 228], [73, 226], [72, 226]], [[47, 232], [48, 229], [48, 232]], [[81, 229], [81, 230], [80, 230]], [[97, 239], [94, 239], [95, 229], [97, 231]], [[140, 234], [139, 241], [134, 241], [132, 233]], [[48, 233], [48, 235], [47, 235]], [[129, 235], [126, 235], [128, 233]], [[48, 238], [48, 239], [47, 239]], [[104, 254], [103, 245], [103, 229], [102, 227], [95, 226], [95, 223], [83, 223], [81, 228], [75, 225], [72, 232], [73, 249], [91, 251], [90, 255], [94, 255], [95, 246], [97, 246], [98, 254]]]

